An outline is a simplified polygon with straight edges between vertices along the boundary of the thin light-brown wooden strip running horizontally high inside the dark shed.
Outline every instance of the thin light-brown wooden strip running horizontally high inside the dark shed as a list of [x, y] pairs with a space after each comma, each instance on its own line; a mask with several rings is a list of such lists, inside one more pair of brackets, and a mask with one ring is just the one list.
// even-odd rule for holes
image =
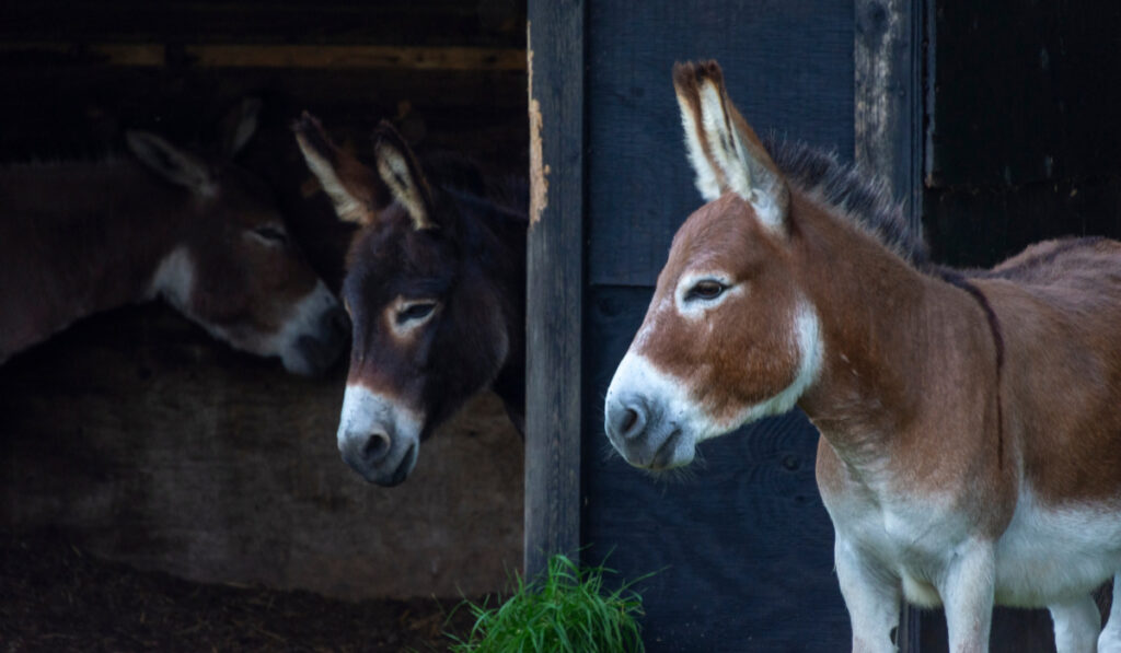
[[[10, 52], [89, 54], [113, 66], [163, 66], [168, 60], [164, 44], [0, 44], [0, 53]], [[176, 47], [175, 53], [210, 68], [526, 69], [526, 52], [519, 48], [195, 44]]]

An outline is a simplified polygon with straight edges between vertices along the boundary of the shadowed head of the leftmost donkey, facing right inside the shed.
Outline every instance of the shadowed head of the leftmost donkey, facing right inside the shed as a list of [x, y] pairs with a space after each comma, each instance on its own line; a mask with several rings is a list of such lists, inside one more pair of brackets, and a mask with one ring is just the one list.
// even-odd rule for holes
[[152, 133], [127, 133], [137, 158], [182, 189], [185, 207], [151, 293], [235, 348], [315, 374], [345, 346], [346, 318], [289, 239], [268, 188], [232, 162], [253, 132], [256, 110], [242, 104], [214, 161]]

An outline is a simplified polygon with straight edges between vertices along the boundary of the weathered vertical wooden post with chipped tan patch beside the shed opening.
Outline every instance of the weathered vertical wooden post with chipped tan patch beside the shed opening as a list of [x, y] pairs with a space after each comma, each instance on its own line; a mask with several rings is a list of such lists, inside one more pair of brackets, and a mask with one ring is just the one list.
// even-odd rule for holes
[[527, 576], [580, 547], [584, 16], [583, 0], [528, 6]]

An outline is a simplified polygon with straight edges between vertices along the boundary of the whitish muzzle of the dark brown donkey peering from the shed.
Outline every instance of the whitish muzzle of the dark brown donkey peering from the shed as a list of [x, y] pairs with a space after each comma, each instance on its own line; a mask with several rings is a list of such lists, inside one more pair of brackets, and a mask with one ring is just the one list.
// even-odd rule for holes
[[350, 384], [343, 394], [339, 451], [363, 478], [392, 487], [416, 467], [423, 427], [424, 416], [395, 398]]

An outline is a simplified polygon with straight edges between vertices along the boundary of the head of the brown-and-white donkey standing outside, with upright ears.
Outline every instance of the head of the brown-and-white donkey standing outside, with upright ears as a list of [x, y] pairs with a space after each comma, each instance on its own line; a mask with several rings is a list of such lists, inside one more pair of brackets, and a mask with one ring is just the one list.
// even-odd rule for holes
[[790, 410], [822, 357], [817, 317], [799, 291], [786, 180], [715, 62], [678, 64], [674, 86], [708, 204], [674, 236], [605, 400], [612, 445], [651, 469], [688, 464], [700, 441]]

